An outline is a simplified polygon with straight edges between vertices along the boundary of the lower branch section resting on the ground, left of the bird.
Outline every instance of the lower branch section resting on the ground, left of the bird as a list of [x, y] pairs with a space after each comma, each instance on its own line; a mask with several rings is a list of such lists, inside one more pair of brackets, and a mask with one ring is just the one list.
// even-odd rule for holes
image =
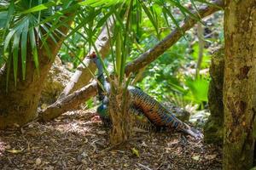
[[73, 94], [69, 94], [62, 99], [58, 99], [54, 104], [49, 105], [43, 111], [39, 111], [38, 120], [46, 122], [60, 116], [66, 111], [76, 110], [81, 103], [90, 99], [92, 96], [95, 96], [96, 91], [96, 82], [91, 82], [84, 88], [73, 92]]

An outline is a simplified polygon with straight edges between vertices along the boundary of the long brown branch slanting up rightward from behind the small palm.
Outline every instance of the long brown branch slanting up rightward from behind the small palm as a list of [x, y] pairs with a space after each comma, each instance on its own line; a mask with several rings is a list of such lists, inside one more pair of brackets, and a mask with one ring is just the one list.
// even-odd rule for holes
[[[222, 0], [216, 0], [212, 2], [212, 4], [217, 5], [221, 8], [224, 7], [224, 3]], [[194, 12], [195, 15], [198, 17], [205, 18], [210, 14], [215, 13], [216, 11], [220, 10], [220, 8], [214, 6], [204, 6], [198, 9], [197, 12]], [[137, 59], [134, 59], [130, 63], [125, 66], [125, 74], [129, 75], [131, 72], [138, 71], [139, 69], [143, 68], [144, 66], [150, 64], [152, 61], [157, 59], [161, 54], [171, 48], [174, 43], [176, 43], [181, 37], [183, 37], [183, 32], [188, 31], [190, 28], [195, 26], [198, 20], [195, 20], [191, 17], [184, 20], [183, 26], [180, 26], [179, 29], [175, 29], [171, 32], [168, 36], [166, 36], [162, 41], [154, 46], [154, 48], [148, 49], [145, 53], [143, 53]]]

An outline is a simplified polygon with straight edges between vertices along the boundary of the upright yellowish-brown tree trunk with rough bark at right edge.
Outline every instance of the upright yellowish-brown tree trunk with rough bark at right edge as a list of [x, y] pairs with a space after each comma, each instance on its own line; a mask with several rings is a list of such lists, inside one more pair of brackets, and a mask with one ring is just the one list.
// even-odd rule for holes
[[224, 169], [253, 165], [256, 105], [256, 1], [225, 0]]

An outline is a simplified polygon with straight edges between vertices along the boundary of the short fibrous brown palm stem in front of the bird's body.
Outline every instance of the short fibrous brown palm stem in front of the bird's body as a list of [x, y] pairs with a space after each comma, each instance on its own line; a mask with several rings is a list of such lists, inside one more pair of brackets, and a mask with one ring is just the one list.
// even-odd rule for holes
[[131, 136], [132, 122], [129, 114], [131, 95], [124, 87], [112, 84], [108, 99], [109, 116], [112, 121], [110, 143], [121, 144]]

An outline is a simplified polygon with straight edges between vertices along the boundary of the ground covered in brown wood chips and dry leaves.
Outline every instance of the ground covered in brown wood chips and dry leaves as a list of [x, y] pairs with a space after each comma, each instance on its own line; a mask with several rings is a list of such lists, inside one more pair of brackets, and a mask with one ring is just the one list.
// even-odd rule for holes
[[95, 111], [0, 131], [0, 169], [221, 169], [221, 150], [181, 133], [136, 133], [111, 147]]

